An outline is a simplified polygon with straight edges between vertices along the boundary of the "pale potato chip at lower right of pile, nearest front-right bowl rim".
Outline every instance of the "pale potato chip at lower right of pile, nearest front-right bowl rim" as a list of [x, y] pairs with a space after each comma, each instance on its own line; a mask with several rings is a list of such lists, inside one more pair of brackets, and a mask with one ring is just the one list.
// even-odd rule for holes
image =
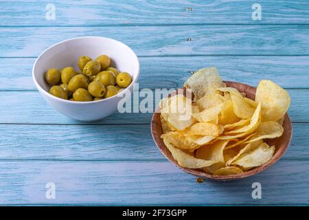
[[261, 166], [268, 162], [273, 153], [275, 152], [275, 146], [268, 146], [265, 142], [254, 148], [252, 151], [242, 153], [238, 159], [231, 164], [242, 167], [243, 170], [249, 170], [250, 168]]

